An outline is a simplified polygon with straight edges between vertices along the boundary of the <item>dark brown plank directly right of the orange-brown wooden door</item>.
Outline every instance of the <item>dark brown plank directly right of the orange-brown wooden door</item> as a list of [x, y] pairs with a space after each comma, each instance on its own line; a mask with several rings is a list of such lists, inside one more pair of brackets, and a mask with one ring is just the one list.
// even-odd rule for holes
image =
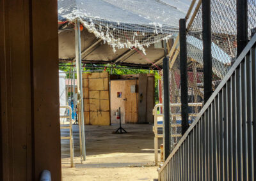
[[147, 122], [147, 74], [139, 74], [138, 87], [138, 122]]

